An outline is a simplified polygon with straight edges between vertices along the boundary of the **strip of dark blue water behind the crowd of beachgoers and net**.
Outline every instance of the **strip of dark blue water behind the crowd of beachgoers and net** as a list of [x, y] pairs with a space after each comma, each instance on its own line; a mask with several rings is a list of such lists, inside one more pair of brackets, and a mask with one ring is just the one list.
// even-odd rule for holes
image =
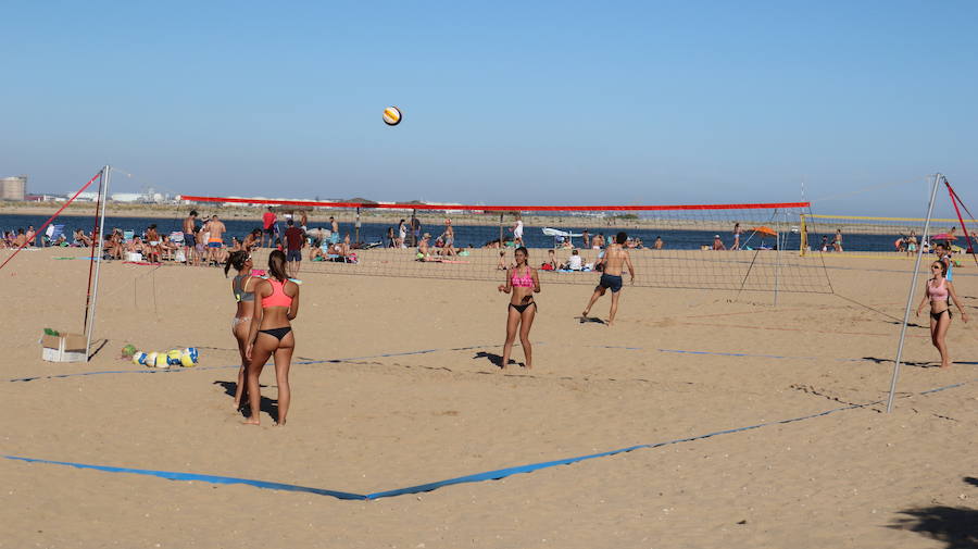
[[[47, 215], [22, 215], [22, 214], [0, 214], [0, 230], [11, 230], [17, 229], [20, 227], [27, 228], [27, 225], [34, 225], [35, 227], [39, 227], [45, 221], [47, 221]], [[261, 227], [261, 223], [258, 221], [242, 221], [242, 220], [222, 220], [227, 226], [228, 229], [228, 239], [230, 237], [243, 238], [244, 235], [250, 233], [254, 228]], [[80, 216], [63, 216], [59, 217], [55, 223], [64, 224], [64, 232], [68, 238], [71, 238], [72, 230], [76, 228], [83, 228], [86, 233], [92, 229], [92, 217], [80, 217]], [[106, 230], [109, 227], [118, 227], [122, 229], [131, 229], [136, 230], [136, 234], [141, 234], [146, 230], [146, 227], [151, 223], [155, 223], [158, 230], [160, 234], [170, 234], [173, 230], [180, 230], [180, 225], [183, 223], [181, 219], [152, 219], [152, 217], [122, 217], [108, 215], [105, 217], [105, 227]], [[312, 223], [310, 228], [316, 228], [321, 225], [318, 223]], [[285, 229], [285, 224], [279, 223], [280, 229]], [[383, 223], [363, 223], [361, 227], [361, 239], [366, 242], [374, 241], [385, 241], [386, 244], [386, 235], [387, 228], [390, 227], [389, 224]], [[597, 234], [599, 232], [603, 232], [605, 236], [613, 236], [617, 230], [614, 227], [610, 229], [605, 228], [594, 228], [592, 227], [584, 227], [584, 226], [566, 226], [566, 225], [554, 225], [555, 228], [560, 228], [561, 230], [570, 230], [575, 234], [580, 233], [582, 229], [588, 228], [591, 234]], [[394, 225], [394, 228], [397, 226]], [[350, 233], [351, 238], [353, 237], [353, 224], [352, 223], [340, 223], [340, 232], [341, 233]], [[423, 232], [431, 233], [432, 238], [437, 237], [441, 234], [442, 227], [440, 225], [425, 225], [422, 227]], [[673, 230], [660, 230], [660, 229], [628, 229], [628, 236], [638, 236], [642, 240], [644, 240], [645, 246], [651, 246], [653, 240], [655, 240], [656, 236], [661, 236], [665, 246], [670, 249], [699, 249], [700, 246], [703, 245], [712, 245], [713, 244], [713, 235], [715, 232], [712, 230], [690, 230], [690, 229], [673, 229]], [[512, 233], [506, 230], [506, 236], [512, 236]], [[775, 245], [775, 239], [772, 237], [767, 237], [765, 239], [760, 239], [757, 236], [754, 236], [748, 241], [748, 237], [750, 235], [741, 236], [741, 244], [747, 241], [748, 246], [758, 247], [762, 245], [773, 247]], [[810, 233], [808, 241], [815, 247], [822, 242], [822, 233]], [[831, 241], [833, 234], [826, 234], [828, 236], [829, 241]], [[843, 246], [847, 251], [893, 251], [893, 241], [898, 238], [899, 235], [866, 235], [866, 234], [845, 234], [843, 235]], [[480, 247], [486, 242], [499, 238], [499, 227], [498, 226], [468, 226], [468, 225], [456, 225], [455, 226], [455, 245], [456, 246], [468, 246], [473, 245], [476, 247]], [[720, 233], [720, 238], [723, 239], [726, 246], [730, 246], [734, 241], [734, 237], [729, 230], [725, 233]], [[797, 250], [800, 246], [800, 235], [797, 234], [788, 234], [782, 238], [787, 238], [785, 246], [789, 250]], [[527, 246], [530, 248], [550, 248], [554, 245], [554, 240], [552, 237], [546, 236], [541, 232], [541, 227], [529, 226], [527, 225], [524, 229], [524, 240], [527, 242]], [[228, 240], [229, 241], [229, 240]], [[575, 244], [579, 245], [580, 239], [575, 238]]]

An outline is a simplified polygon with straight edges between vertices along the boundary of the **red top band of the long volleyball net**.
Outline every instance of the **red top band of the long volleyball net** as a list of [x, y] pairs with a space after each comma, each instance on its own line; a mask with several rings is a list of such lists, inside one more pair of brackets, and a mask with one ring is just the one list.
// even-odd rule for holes
[[686, 205], [467, 205], [467, 204], [381, 204], [376, 202], [319, 202], [312, 200], [276, 200], [258, 198], [197, 197], [181, 195], [178, 200], [192, 202], [224, 202], [237, 204], [294, 205], [300, 208], [364, 208], [378, 210], [437, 210], [469, 212], [611, 212], [662, 210], [770, 210], [775, 208], [808, 208], [811, 202], [775, 202], [755, 204], [686, 204]]

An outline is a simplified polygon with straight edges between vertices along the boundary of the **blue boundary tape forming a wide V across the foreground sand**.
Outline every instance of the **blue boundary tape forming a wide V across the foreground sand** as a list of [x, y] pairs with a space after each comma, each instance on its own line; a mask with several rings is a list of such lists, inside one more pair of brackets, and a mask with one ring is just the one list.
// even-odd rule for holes
[[[955, 387], [962, 387], [964, 385], [967, 385], [967, 384], [976, 382], [976, 380], [978, 380], [978, 378], [971, 379], [968, 382], [961, 382], [961, 383], [956, 383], [956, 384], [952, 384], [952, 385], [946, 385], [946, 386], [938, 387], [935, 389], [928, 389], [928, 390], [918, 392], [918, 395], [929, 395], [929, 394], [933, 394], [933, 392], [938, 392], [938, 391], [942, 391], [942, 390], [946, 390], [946, 389], [952, 389]], [[845, 410], [854, 410], [854, 409], [858, 409], [858, 408], [866, 408], [869, 405], [880, 404], [882, 402], [883, 402], [883, 400], [875, 400], [873, 402], [867, 402], [864, 404], [850, 404], [850, 405], [844, 405], [844, 407], [840, 407], [840, 408], [833, 408], [830, 410], [825, 410], [825, 411], [813, 413], [813, 414], [801, 415], [798, 417], [790, 417], [787, 420], [777, 420], [777, 421], [772, 421], [772, 422], [758, 423], [756, 425], [748, 425], [744, 427], [735, 427], [735, 428], [729, 428], [729, 429], [715, 431], [713, 433], [707, 433], [705, 435], [698, 435], [698, 436], [688, 437], [688, 438], [677, 438], [677, 439], [667, 440], [664, 442], [636, 445], [636, 446], [629, 446], [627, 448], [619, 448], [617, 450], [610, 450], [606, 452], [591, 453], [588, 456], [578, 456], [576, 458], [566, 458], [566, 459], [562, 459], [562, 460], [546, 461], [546, 462], [541, 462], [541, 463], [531, 463], [528, 465], [518, 465], [518, 466], [507, 467], [507, 469], [499, 469], [496, 471], [488, 471], [485, 473], [476, 473], [473, 475], [459, 476], [459, 477], [449, 478], [446, 481], [438, 481], [438, 482], [421, 484], [421, 485], [416, 485], [416, 486], [409, 486], [406, 488], [399, 488], [399, 489], [394, 489], [394, 490], [376, 491], [373, 494], [365, 494], [365, 495], [353, 494], [353, 492], [348, 492], [348, 491], [339, 491], [339, 490], [327, 490], [327, 489], [322, 489], [322, 488], [312, 488], [309, 486], [298, 486], [298, 485], [292, 485], [292, 484], [273, 483], [273, 482], [267, 482], [267, 481], [254, 481], [254, 479], [250, 479], [250, 478], [238, 478], [238, 477], [231, 477], [231, 476], [202, 475], [202, 474], [197, 474], [197, 473], [177, 473], [177, 472], [172, 472], [172, 471], [153, 471], [153, 470], [145, 470], [145, 469], [116, 467], [116, 466], [110, 466], [110, 465], [92, 465], [92, 464], [74, 463], [74, 462], [67, 462], [67, 461], [51, 461], [51, 460], [43, 460], [43, 459], [36, 459], [36, 458], [24, 458], [24, 457], [20, 457], [20, 456], [3, 456], [3, 457], [9, 460], [18, 460], [18, 461], [25, 461], [28, 463], [45, 463], [45, 464], [51, 464], [51, 465], [65, 465], [65, 466], [73, 466], [73, 467], [78, 467], [78, 469], [90, 469], [90, 470], [97, 470], [97, 471], [104, 471], [108, 473], [130, 473], [130, 474], [139, 474], [139, 475], [149, 475], [149, 476], [156, 476], [160, 478], [166, 478], [170, 481], [200, 481], [200, 482], [212, 483], [212, 484], [244, 484], [248, 486], [253, 486], [255, 488], [308, 492], [308, 494], [315, 494], [315, 495], [319, 495], [319, 496], [330, 496], [330, 497], [341, 499], [341, 500], [374, 500], [374, 499], [380, 499], [380, 498], [391, 498], [394, 496], [404, 496], [404, 495], [409, 495], [409, 494], [419, 494], [419, 492], [425, 492], [425, 491], [431, 491], [431, 490], [435, 490], [438, 488], [442, 488], [444, 486], [452, 486], [455, 484], [478, 483], [478, 482], [484, 482], [484, 481], [496, 481], [496, 479], [505, 478], [507, 476], [516, 475], [516, 474], [521, 474], [521, 473], [531, 473], [534, 471], [538, 471], [541, 469], [548, 469], [548, 467], [553, 467], [553, 466], [557, 466], [557, 465], [568, 465], [568, 464], [585, 461], [585, 460], [605, 458], [605, 457], [610, 457], [610, 456], [615, 456], [617, 453], [625, 453], [625, 452], [630, 452], [630, 451], [639, 450], [639, 449], [660, 448], [663, 446], [669, 446], [669, 445], [676, 445], [676, 444], [682, 444], [682, 442], [691, 442], [694, 440], [703, 440], [703, 439], [711, 438], [711, 437], [716, 437], [716, 436], [720, 436], [720, 435], [730, 435], [734, 433], [741, 433], [744, 431], [752, 431], [752, 429], [757, 429], [757, 428], [762, 428], [762, 427], [768, 427], [772, 425], [795, 423], [795, 422], [800, 422], [800, 421], [826, 416], [826, 415], [829, 415], [829, 414], [832, 414], [836, 412], [845, 411]]]

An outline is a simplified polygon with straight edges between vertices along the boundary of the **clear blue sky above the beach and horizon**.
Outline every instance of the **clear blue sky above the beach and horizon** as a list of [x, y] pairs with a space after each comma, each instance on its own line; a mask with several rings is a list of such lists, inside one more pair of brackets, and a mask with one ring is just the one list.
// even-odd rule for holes
[[978, 207], [978, 2], [7, 1], [0, 21], [0, 175], [34, 191], [104, 163], [134, 174], [116, 190], [514, 204], [798, 200], [804, 179], [822, 213], [921, 215], [942, 171]]

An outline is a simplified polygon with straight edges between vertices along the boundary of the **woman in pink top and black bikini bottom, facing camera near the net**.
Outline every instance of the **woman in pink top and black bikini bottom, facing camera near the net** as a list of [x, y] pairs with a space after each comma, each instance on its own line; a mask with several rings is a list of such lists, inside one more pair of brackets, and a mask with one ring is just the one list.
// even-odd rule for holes
[[516, 328], [519, 328], [519, 344], [526, 357], [527, 370], [534, 367], [534, 349], [529, 342], [529, 329], [534, 325], [537, 315], [537, 303], [534, 294], [540, 292], [540, 278], [537, 270], [527, 264], [529, 253], [526, 248], [516, 248], [516, 266], [506, 271], [506, 284], [499, 285], [499, 291], [513, 294], [510, 298], [510, 307], [506, 308], [506, 342], [503, 345], [502, 369], [510, 364], [510, 352], [513, 350], [513, 340], [516, 339]]

